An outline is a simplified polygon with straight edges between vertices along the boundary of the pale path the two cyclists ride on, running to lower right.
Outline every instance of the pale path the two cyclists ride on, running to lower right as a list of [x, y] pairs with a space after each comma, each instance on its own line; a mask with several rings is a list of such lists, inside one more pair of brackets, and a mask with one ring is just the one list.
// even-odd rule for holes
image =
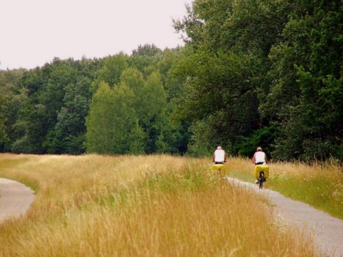
[[296, 225], [315, 236], [319, 249], [325, 256], [343, 257], [343, 220], [317, 210], [301, 201], [294, 201], [258, 185], [228, 178], [230, 183], [265, 194], [275, 208], [275, 217], [283, 224]]

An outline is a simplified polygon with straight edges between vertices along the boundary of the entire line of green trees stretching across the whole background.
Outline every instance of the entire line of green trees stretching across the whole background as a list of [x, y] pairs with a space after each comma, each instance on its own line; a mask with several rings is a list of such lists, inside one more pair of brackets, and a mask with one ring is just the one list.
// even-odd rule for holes
[[341, 1], [196, 0], [184, 47], [0, 71], [0, 151], [343, 159]]

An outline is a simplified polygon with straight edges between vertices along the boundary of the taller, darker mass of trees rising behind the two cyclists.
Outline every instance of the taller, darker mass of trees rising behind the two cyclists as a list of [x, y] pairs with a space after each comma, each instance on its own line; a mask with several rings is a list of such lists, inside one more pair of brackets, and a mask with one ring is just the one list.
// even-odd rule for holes
[[197, 0], [175, 21], [190, 150], [223, 144], [280, 160], [343, 159], [341, 1]]

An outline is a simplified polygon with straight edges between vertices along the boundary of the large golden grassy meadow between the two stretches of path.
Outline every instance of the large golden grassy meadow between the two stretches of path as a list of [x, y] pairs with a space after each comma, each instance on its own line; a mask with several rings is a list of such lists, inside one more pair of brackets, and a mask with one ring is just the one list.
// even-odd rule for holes
[[[230, 162], [248, 177], [248, 160]], [[0, 256], [319, 256], [264, 197], [209, 167], [176, 156], [0, 154], [0, 176], [36, 192], [24, 217], [0, 224]]]

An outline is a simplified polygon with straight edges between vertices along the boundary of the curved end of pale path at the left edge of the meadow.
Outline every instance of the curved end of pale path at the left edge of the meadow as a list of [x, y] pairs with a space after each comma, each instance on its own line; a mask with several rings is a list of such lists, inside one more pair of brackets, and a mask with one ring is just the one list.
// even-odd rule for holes
[[24, 215], [35, 199], [33, 193], [22, 183], [0, 179], [0, 222]]

